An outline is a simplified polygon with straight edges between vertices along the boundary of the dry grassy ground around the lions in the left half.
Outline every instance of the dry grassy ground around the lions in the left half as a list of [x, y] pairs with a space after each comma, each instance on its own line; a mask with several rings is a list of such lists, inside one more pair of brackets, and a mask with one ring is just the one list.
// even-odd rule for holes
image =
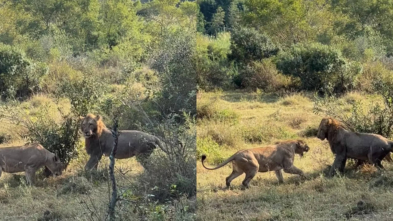
[[[69, 111], [70, 103], [63, 99], [58, 103]], [[46, 95], [35, 95], [19, 105], [31, 119], [43, 108], [50, 117], [60, 120], [54, 99]], [[23, 127], [0, 121], [1, 147], [23, 145], [20, 137]], [[1, 221], [97, 221], [105, 220], [109, 197], [112, 191], [108, 176], [108, 157], [101, 159], [95, 173], [84, 172], [88, 160], [84, 140], [80, 140], [79, 156], [73, 160], [60, 177], [44, 179], [37, 172], [35, 186], [26, 185], [24, 172], [3, 173], [0, 178], [0, 220]], [[154, 152], [156, 153], [156, 152]], [[152, 156], [154, 156], [154, 153]], [[116, 160], [115, 175], [118, 190], [124, 199], [116, 206], [117, 220], [190, 220], [195, 215], [195, 198], [186, 197], [167, 202], [158, 202], [146, 193], [145, 187], [138, 186], [137, 180], [143, 173], [142, 166], [135, 158]], [[125, 173], [125, 175], [121, 175]], [[189, 218], [191, 217], [191, 218]]]

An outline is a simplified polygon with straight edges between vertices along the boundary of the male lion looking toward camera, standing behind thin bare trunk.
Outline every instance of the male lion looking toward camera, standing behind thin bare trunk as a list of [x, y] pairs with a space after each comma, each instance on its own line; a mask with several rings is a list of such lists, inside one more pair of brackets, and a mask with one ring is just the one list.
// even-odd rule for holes
[[[112, 132], [105, 127], [99, 115], [87, 114], [86, 117], [80, 117], [80, 120], [86, 152], [90, 155], [85, 168], [97, 169], [102, 155], [109, 157], [112, 151], [114, 142]], [[162, 148], [160, 140], [151, 134], [142, 131], [119, 131], [115, 158], [125, 159], [136, 156], [138, 162], [146, 168], [146, 160], [157, 145]]]

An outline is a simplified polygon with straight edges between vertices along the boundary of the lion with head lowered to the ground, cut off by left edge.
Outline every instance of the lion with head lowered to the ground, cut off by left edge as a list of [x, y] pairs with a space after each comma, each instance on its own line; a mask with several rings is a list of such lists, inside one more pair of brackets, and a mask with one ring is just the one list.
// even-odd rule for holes
[[63, 165], [59, 158], [40, 144], [0, 148], [0, 177], [6, 173], [26, 172], [29, 184], [35, 183], [35, 172], [46, 166], [53, 177], [61, 175]]

